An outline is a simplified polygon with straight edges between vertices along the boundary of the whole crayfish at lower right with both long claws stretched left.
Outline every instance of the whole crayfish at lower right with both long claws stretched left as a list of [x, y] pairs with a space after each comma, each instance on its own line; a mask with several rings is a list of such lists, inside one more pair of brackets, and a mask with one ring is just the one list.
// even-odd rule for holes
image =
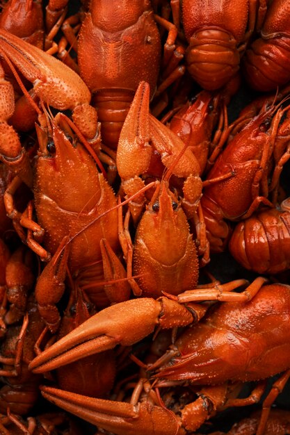
[[[181, 410], [181, 418], [176, 416], [176, 433], [195, 431], [221, 408], [255, 403], [257, 397], [260, 398], [264, 393], [266, 384], [261, 380], [286, 370], [275, 381], [270, 395], [264, 401], [257, 429], [258, 435], [263, 433], [271, 404], [290, 375], [290, 287], [283, 284], [264, 285], [265, 281], [264, 278], [257, 278], [243, 293], [227, 291], [225, 285], [224, 291], [223, 287], [215, 290], [198, 289], [179, 295], [180, 301], [219, 299], [229, 302], [214, 304], [200, 322], [186, 328], [168, 352], [150, 366], [152, 379], [155, 379], [155, 385], [159, 388], [190, 384], [200, 386], [202, 390], [197, 400], [186, 404]], [[177, 299], [174, 296], [172, 298]], [[135, 324], [136, 318], [140, 320], [140, 327]], [[177, 300], [165, 297], [156, 301], [141, 298], [115, 304], [92, 316], [45, 350], [29, 367], [35, 372], [45, 372], [117, 344], [136, 343], [156, 326], [170, 329], [191, 325], [194, 318], [191, 304], [179, 304]], [[67, 351], [63, 352], [64, 349]], [[245, 381], [260, 381], [255, 394], [244, 399], [229, 398], [229, 386]], [[128, 429], [122, 403], [92, 401], [88, 397], [47, 387], [43, 388], [43, 392], [45, 397], [60, 407], [115, 434], [134, 434], [136, 429], [140, 430], [140, 420], [145, 411], [139, 405], [125, 405], [129, 407], [126, 408], [127, 418], [134, 418]], [[154, 418], [155, 411], [155, 407], [151, 411], [147, 408], [147, 415], [152, 412], [148, 420]], [[103, 421], [104, 414], [106, 423]], [[120, 427], [115, 426], [117, 416], [124, 418]], [[165, 416], [166, 413], [163, 418]], [[171, 418], [168, 412], [168, 425]], [[124, 427], [127, 427], [127, 432], [124, 432]], [[180, 432], [177, 432], [177, 428]], [[148, 427], [143, 427], [140, 433], [150, 432]], [[161, 429], [154, 433], [163, 434]]]

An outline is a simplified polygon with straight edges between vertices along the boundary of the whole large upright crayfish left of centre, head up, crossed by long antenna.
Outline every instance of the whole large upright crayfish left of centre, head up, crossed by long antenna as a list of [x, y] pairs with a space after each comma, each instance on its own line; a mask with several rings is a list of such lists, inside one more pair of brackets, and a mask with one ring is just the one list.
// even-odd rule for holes
[[[104, 281], [104, 273], [110, 269], [110, 264], [122, 273], [118, 259], [117, 199], [103, 174], [97, 171], [95, 161], [73, 137], [69, 127], [64, 128], [62, 130], [52, 119], [51, 138], [47, 131], [38, 128], [40, 152], [34, 186], [38, 224], [27, 222], [28, 229], [31, 225], [44, 229], [45, 249], [35, 240], [26, 243], [42, 258], [47, 258], [50, 252], [54, 254], [35, 290], [39, 309], [51, 331], [55, 331], [60, 322], [55, 304], [63, 295], [67, 265], [77, 285], [86, 291], [92, 303], [101, 307], [110, 303], [110, 296], [104, 292], [106, 283], [99, 286]], [[117, 299], [112, 291], [112, 301], [129, 297], [129, 287], [122, 289], [124, 293], [121, 286], [115, 292]]]

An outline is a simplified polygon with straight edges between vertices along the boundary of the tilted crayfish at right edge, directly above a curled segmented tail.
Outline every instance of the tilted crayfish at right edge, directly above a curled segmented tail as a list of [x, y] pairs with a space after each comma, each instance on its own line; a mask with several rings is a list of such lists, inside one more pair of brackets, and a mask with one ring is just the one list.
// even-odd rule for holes
[[225, 249], [230, 236], [227, 220], [245, 219], [261, 203], [271, 206], [270, 193], [275, 200], [282, 165], [289, 158], [289, 118], [281, 122], [288, 109], [281, 104], [263, 106], [250, 120], [243, 114], [229, 126], [229, 131], [240, 124], [243, 128], [228, 142], [207, 178], [229, 171], [232, 177], [205, 186], [201, 199], [212, 252]]

